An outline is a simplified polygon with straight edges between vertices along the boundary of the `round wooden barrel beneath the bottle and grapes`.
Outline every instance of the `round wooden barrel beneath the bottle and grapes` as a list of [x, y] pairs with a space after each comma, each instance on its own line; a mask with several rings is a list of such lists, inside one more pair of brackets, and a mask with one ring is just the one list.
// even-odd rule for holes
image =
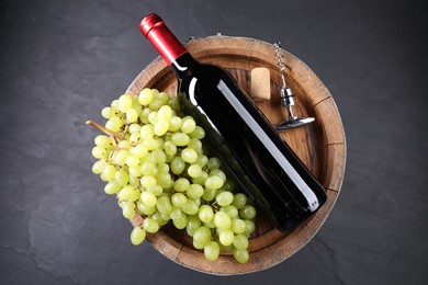
[[[246, 37], [211, 36], [192, 39], [187, 43], [187, 48], [199, 61], [227, 69], [247, 93], [250, 92], [251, 70], [257, 67], [268, 68], [271, 75], [271, 99], [257, 104], [272, 124], [285, 118], [280, 104], [282, 81], [273, 45]], [[290, 232], [279, 231], [260, 215], [257, 230], [250, 237], [250, 259], [246, 264], [236, 262], [229, 253], [222, 253], [214, 262], [205, 260], [203, 252], [193, 248], [191, 237], [173, 226], [166, 225], [156, 235], [147, 235], [147, 240], [155, 249], [183, 266], [216, 275], [245, 274], [271, 267], [302, 249], [322, 227], [335, 205], [346, 162], [346, 139], [339, 112], [318, 77], [300, 59], [283, 49], [281, 52], [286, 67], [286, 82], [295, 95], [294, 113], [315, 117], [315, 122], [280, 134], [324, 185], [327, 203]], [[177, 92], [176, 77], [160, 57], [135, 78], [127, 92], [137, 95], [146, 87], [170, 94]], [[132, 224], [140, 225], [142, 217], [136, 216]]]

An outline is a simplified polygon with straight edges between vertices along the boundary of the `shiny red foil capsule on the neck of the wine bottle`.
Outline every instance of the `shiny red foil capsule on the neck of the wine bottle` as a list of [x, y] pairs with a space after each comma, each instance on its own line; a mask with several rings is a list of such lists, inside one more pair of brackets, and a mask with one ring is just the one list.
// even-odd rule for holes
[[139, 23], [139, 30], [169, 66], [173, 65], [181, 55], [188, 53], [157, 14], [151, 13], [144, 18]]

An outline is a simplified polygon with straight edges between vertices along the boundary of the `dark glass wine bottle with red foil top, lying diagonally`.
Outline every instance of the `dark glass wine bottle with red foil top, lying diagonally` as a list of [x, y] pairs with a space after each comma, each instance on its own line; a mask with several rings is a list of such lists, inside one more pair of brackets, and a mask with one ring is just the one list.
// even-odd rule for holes
[[226, 70], [198, 62], [155, 13], [139, 29], [176, 73], [181, 110], [280, 230], [294, 229], [326, 202], [323, 186]]

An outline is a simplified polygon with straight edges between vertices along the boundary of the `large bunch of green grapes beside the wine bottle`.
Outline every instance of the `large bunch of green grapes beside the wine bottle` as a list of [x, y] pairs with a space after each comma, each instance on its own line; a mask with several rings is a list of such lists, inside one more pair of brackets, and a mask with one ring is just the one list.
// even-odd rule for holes
[[116, 195], [125, 218], [144, 217], [132, 243], [172, 223], [207, 260], [232, 251], [247, 262], [256, 208], [236, 192], [221, 160], [210, 157], [204, 129], [180, 112], [177, 99], [146, 88], [138, 96], [121, 95], [101, 114], [108, 121], [99, 127], [105, 135], [94, 139], [92, 171], [106, 182], [105, 193]]

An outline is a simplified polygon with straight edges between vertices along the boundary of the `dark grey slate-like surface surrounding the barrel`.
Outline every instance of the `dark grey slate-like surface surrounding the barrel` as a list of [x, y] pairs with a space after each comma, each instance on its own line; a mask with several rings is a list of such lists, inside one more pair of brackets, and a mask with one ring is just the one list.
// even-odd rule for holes
[[[324, 81], [348, 142], [317, 236], [281, 264], [217, 277], [148, 243], [91, 174], [100, 111], [156, 56], [137, 24], [282, 47]], [[426, 1], [0, 1], [0, 284], [426, 284]], [[425, 282], [424, 282], [425, 281]]]

